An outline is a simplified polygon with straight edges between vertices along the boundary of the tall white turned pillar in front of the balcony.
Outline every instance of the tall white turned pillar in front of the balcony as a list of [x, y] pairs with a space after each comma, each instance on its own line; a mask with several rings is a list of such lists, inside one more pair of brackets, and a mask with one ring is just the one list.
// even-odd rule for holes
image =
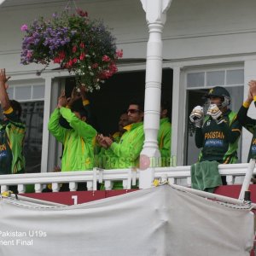
[[172, 0], [141, 0], [146, 12], [149, 38], [147, 46], [146, 88], [144, 106], [145, 142], [140, 160], [140, 189], [151, 187], [154, 167], [160, 163], [157, 135], [160, 125], [160, 96], [162, 80], [162, 31], [166, 11]]

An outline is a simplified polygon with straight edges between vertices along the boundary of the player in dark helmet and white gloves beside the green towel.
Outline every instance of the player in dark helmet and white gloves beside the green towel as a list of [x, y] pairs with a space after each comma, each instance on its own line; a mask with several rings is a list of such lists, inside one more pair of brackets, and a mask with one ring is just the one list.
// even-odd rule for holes
[[[196, 106], [189, 116], [196, 127], [195, 145], [202, 148], [199, 162], [234, 164], [237, 161], [241, 125], [236, 113], [228, 108], [230, 93], [224, 87], [216, 86], [208, 91], [207, 99], [210, 106], [206, 117], [201, 106]], [[225, 177], [222, 177], [222, 182], [226, 184]]]

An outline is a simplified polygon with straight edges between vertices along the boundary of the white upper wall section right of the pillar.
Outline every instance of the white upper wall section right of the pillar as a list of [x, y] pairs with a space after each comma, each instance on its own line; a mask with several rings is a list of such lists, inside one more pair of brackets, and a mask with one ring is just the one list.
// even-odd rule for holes
[[253, 0], [174, 0], [165, 26], [165, 57], [255, 52], [255, 9]]

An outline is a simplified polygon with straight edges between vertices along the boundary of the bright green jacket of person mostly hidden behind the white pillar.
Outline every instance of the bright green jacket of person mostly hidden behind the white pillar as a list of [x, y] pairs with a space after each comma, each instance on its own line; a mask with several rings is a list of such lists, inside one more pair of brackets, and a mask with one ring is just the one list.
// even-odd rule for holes
[[161, 166], [170, 166], [172, 125], [168, 118], [160, 119], [160, 129], [157, 140], [161, 155]]

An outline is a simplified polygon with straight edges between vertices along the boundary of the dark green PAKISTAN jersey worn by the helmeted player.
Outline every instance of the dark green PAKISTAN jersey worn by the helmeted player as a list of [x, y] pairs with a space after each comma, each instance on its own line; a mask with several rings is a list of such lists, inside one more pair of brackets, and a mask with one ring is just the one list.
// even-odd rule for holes
[[201, 149], [199, 161], [216, 160], [220, 164], [233, 164], [237, 161], [238, 140], [241, 125], [236, 113], [228, 109], [224, 113], [224, 122], [217, 124], [207, 116], [201, 128], [195, 130], [195, 144]]

